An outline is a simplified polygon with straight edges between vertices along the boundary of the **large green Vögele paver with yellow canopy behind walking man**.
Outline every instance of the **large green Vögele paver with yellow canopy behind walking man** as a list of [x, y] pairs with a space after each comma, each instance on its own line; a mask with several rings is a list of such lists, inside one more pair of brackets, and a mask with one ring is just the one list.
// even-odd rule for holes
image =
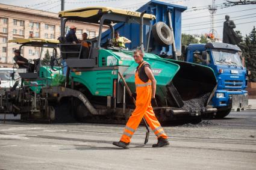
[[[208, 105], [216, 87], [211, 68], [146, 53], [148, 45], [144, 48], [143, 44], [148, 44], [151, 37], [154, 15], [107, 7], [87, 7], [60, 11], [59, 16], [64, 19], [58, 47], [68, 68], [66, 82], [64, 85], [42, 87], [39, 97], [52, 106], [52, 111], [50, 119], [49, 114], [41, 114], [41, 117], [52, 121], [76, 118], [78, 121], [98, 123], [102, 120], [124, 123], [130, 117], [134, 104], [125, 92], [119, 73], [125, 77], [132, 93], [135, 93], [137, 64], [133, 59], [133, 50], [114, 47], [111, 43], [114, 38], [113, 25], [120, 22], [137, 23], [140, 27], [138, 47], [145, 50], [144, 60], [151, 64], [157, 80], [158, 107], [154, 111], [158, 120], [189, 119], [198, 122], [203, 114], [216, 112], [215, 108]], [[87, 40], [89, 49], [85, 50], [82, 44], [66, 42], [64, 28], [66, 22], [72, 20], [99, 25], [98, 37]], [[104, 26], [109, 26], [112, 34], [102, 43]], [[146, 36], [143, 38], [143, 35]]]

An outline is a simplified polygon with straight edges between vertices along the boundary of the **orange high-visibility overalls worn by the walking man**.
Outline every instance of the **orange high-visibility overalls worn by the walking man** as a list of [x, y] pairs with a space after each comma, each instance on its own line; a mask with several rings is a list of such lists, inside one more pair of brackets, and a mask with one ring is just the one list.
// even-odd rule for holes
[[164, 139], [167, 139], [167, 135], [164, 133], [163, 128], [155, 117], [153, 108], [151, 106], [151, 80], [149, 79], [148, 82], [143, 82], [138, 74], [138, 70], [140, 67], [142, 67], [143, 62], [139, 65], [135, 73], [135, 85], [137, 93], [136, 108], [126, 123], [125, 129], [123, 130], [123, 135], [120, 139], [120, 141], [125, 143], [130, 143], [131, 137], [133, 136], [143, 117], [145, 117], [146, 122], [149, 124], [157, 138], [161, 136]]

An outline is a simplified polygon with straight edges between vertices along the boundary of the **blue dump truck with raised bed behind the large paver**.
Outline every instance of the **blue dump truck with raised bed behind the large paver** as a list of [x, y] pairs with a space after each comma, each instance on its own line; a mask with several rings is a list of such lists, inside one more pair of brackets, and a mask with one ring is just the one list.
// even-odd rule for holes
[[[180, 56], [186, 52], [181, 48], [181, 14], [186, 9], [187, 7], [181, 5], [153, 0], [137, 10], [156, 16], [156, 19], [151, 21], [154, 26], [143, 27], [144, 41], [149, 39], [145, 44], [146, 52], [173, 59], [176, 59], [175, 55]], [[126, 45], [129, 49], [135, 49], [136, 44], [139, 44], [139, 26], [133, 23], [117, 23], [114, 30], [131, 40], [131, 43]], [[111, 30], [103, 32], [101, 38], [102, 41], [111, 38]], [[194, 63], [194, 55], [208, 58], [207, 62], [196, 62], [214, 70], [218, 83], [211, 102], [213, 107], [217, 108], [217, 118], [225, 117], [232, 108], [235, 111], [246, 108], [246, 68], [242, 65], [239, 47], [223, 43], [190, 44], [187, 53], [183, 55], [186, 55], [185, 61]]]

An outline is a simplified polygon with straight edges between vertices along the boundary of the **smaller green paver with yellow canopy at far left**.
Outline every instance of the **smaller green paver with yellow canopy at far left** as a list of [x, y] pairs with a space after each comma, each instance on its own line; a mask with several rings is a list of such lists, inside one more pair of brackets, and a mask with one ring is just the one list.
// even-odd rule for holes
[[[26, 63], [28, 68], [33, 65], [32, 69], [19, 68], [15, 64], [21, 84], [15, 83], [10, 91], [5, 91], [5, 96], [1, 98], [0, 103], [4, 103], [2, 107], [5, 108], [5, 113], [20, 114], [22, 120], [50, 121], [54, 115], [54, 108], [49, 106], [48, 100], [42, 97], [42, 87], [51, 85], [53, 80], [61, 75], [62, 69], [61, 67], [52, 67], [52, 69], [49, 65], [41, 65], [41, 59], [44, 49], [52, 49], [53, 55], [57, 55], [59, 41], [45, 38], [18, 38], [8, 42], [20, 44], [20, 51], [23, 47], [39, 47], [40, 55], [39, 58]], [[19, 88], [16, 88], [18, 86]]]

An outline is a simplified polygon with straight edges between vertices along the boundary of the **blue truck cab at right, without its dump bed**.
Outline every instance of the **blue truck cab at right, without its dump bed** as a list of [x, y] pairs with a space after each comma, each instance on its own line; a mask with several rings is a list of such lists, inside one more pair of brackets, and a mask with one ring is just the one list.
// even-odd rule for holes
[[218, 110], [217, 118], [225, 117], [231, 109], [246, 109], [248, 79], [238, 46], [225, 43], [189, 44], [185, 60], [213, 69], [217, 87], [212, 105]]

